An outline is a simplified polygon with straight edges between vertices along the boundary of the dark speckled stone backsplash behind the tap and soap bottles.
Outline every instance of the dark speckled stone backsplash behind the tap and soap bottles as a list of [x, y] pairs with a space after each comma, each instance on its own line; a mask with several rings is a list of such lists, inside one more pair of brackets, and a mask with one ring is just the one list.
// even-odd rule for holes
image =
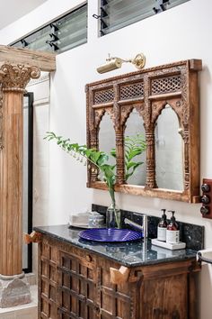
[[[99, 212], [100, 214], [105, 215], [107, 207], [102, 205], [92, 205], [92, 210]], [[143, 218], [142, 214], [135, 212], [130, 212], [126, 210], [121, 211], [121, 225], [123, 228], [127, 228], [124, 224], [124, 219], [128, 218], [135, 223], [142, 225]], [[148, 238], [157, 237], [157, 224], [159, 223], [160, 218], [152, 215], [147, 215], [147, 224], [148, 224]], [[182, 223], [177, 221], [180, 227], [181, 233], [181, 242], [186, 242], [186, 248], [194, 251], [199, 251], [204, 248], [204, 226], [199, 226], [192, 223]], [[128, 226], [129, 228], [129, 226]]]

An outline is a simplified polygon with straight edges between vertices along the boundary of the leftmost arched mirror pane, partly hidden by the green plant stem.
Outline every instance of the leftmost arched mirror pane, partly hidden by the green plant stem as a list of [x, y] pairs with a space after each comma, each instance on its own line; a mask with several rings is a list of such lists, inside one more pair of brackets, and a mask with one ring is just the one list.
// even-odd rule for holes
[[[110, 115], [105, 113], [102, 116], [102, 121], [100, 123], [99, 131], [99, 150], [105, 151], [110, 155], [110, 151], [116, 147], [116, 135], [113, 127], [113, 123], [110, 119]], [[109, 156], [108, 164], [116, 164], [116, 159], [113, 156]], [[114, 168], [115, 171], [115, 168]], [[99, 176], [100, 180], [103, 180], [102, 173]]]

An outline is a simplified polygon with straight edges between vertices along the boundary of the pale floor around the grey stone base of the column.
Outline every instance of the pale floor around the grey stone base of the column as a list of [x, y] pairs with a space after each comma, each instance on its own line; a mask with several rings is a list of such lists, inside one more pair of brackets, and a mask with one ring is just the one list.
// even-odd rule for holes
[[0, 319], [37, 319], [38, 286], [31, 286], [31, 303], [11, 308], [0, 308]]

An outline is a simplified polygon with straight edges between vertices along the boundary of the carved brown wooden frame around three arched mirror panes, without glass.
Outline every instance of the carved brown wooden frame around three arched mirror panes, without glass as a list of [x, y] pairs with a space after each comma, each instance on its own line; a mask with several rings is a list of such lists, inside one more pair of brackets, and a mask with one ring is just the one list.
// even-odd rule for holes
[[[190, 59], [147, 68], [86, 85], [87, 145], [99, 147], [102, 116], [107, 113], [116, 136], [116, 191], [184, 202], [199, 202], [199, 86], [201, 60]], [[155, 178], [155, 123], [165, 105], [181, 123], [183, 139], [182, 191], [158, 188]], [[125, 183], [124, 131], [132, 109], [142, 116], [146, 130], [146, 185]], [[107, 189], [97, 169], [88, 169], [88, 187]]]

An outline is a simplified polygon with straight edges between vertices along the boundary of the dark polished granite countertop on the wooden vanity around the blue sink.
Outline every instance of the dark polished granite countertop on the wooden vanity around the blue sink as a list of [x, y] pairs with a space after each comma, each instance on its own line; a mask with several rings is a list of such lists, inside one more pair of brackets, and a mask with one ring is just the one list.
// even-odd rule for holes
[[34, 231], [46, 234], [61, 242], [69, 242], [87, 251], [93, 251], [127, 267], [190, 260], [196, 257], [197, 252], [191, 250], [169, 251], [152, 245], [150, 241], [143, 242], [141, 240], [114, 243], [88, 242], [79, 238], [79, 229], [70, 229], [67, 225], [34, 227]]

